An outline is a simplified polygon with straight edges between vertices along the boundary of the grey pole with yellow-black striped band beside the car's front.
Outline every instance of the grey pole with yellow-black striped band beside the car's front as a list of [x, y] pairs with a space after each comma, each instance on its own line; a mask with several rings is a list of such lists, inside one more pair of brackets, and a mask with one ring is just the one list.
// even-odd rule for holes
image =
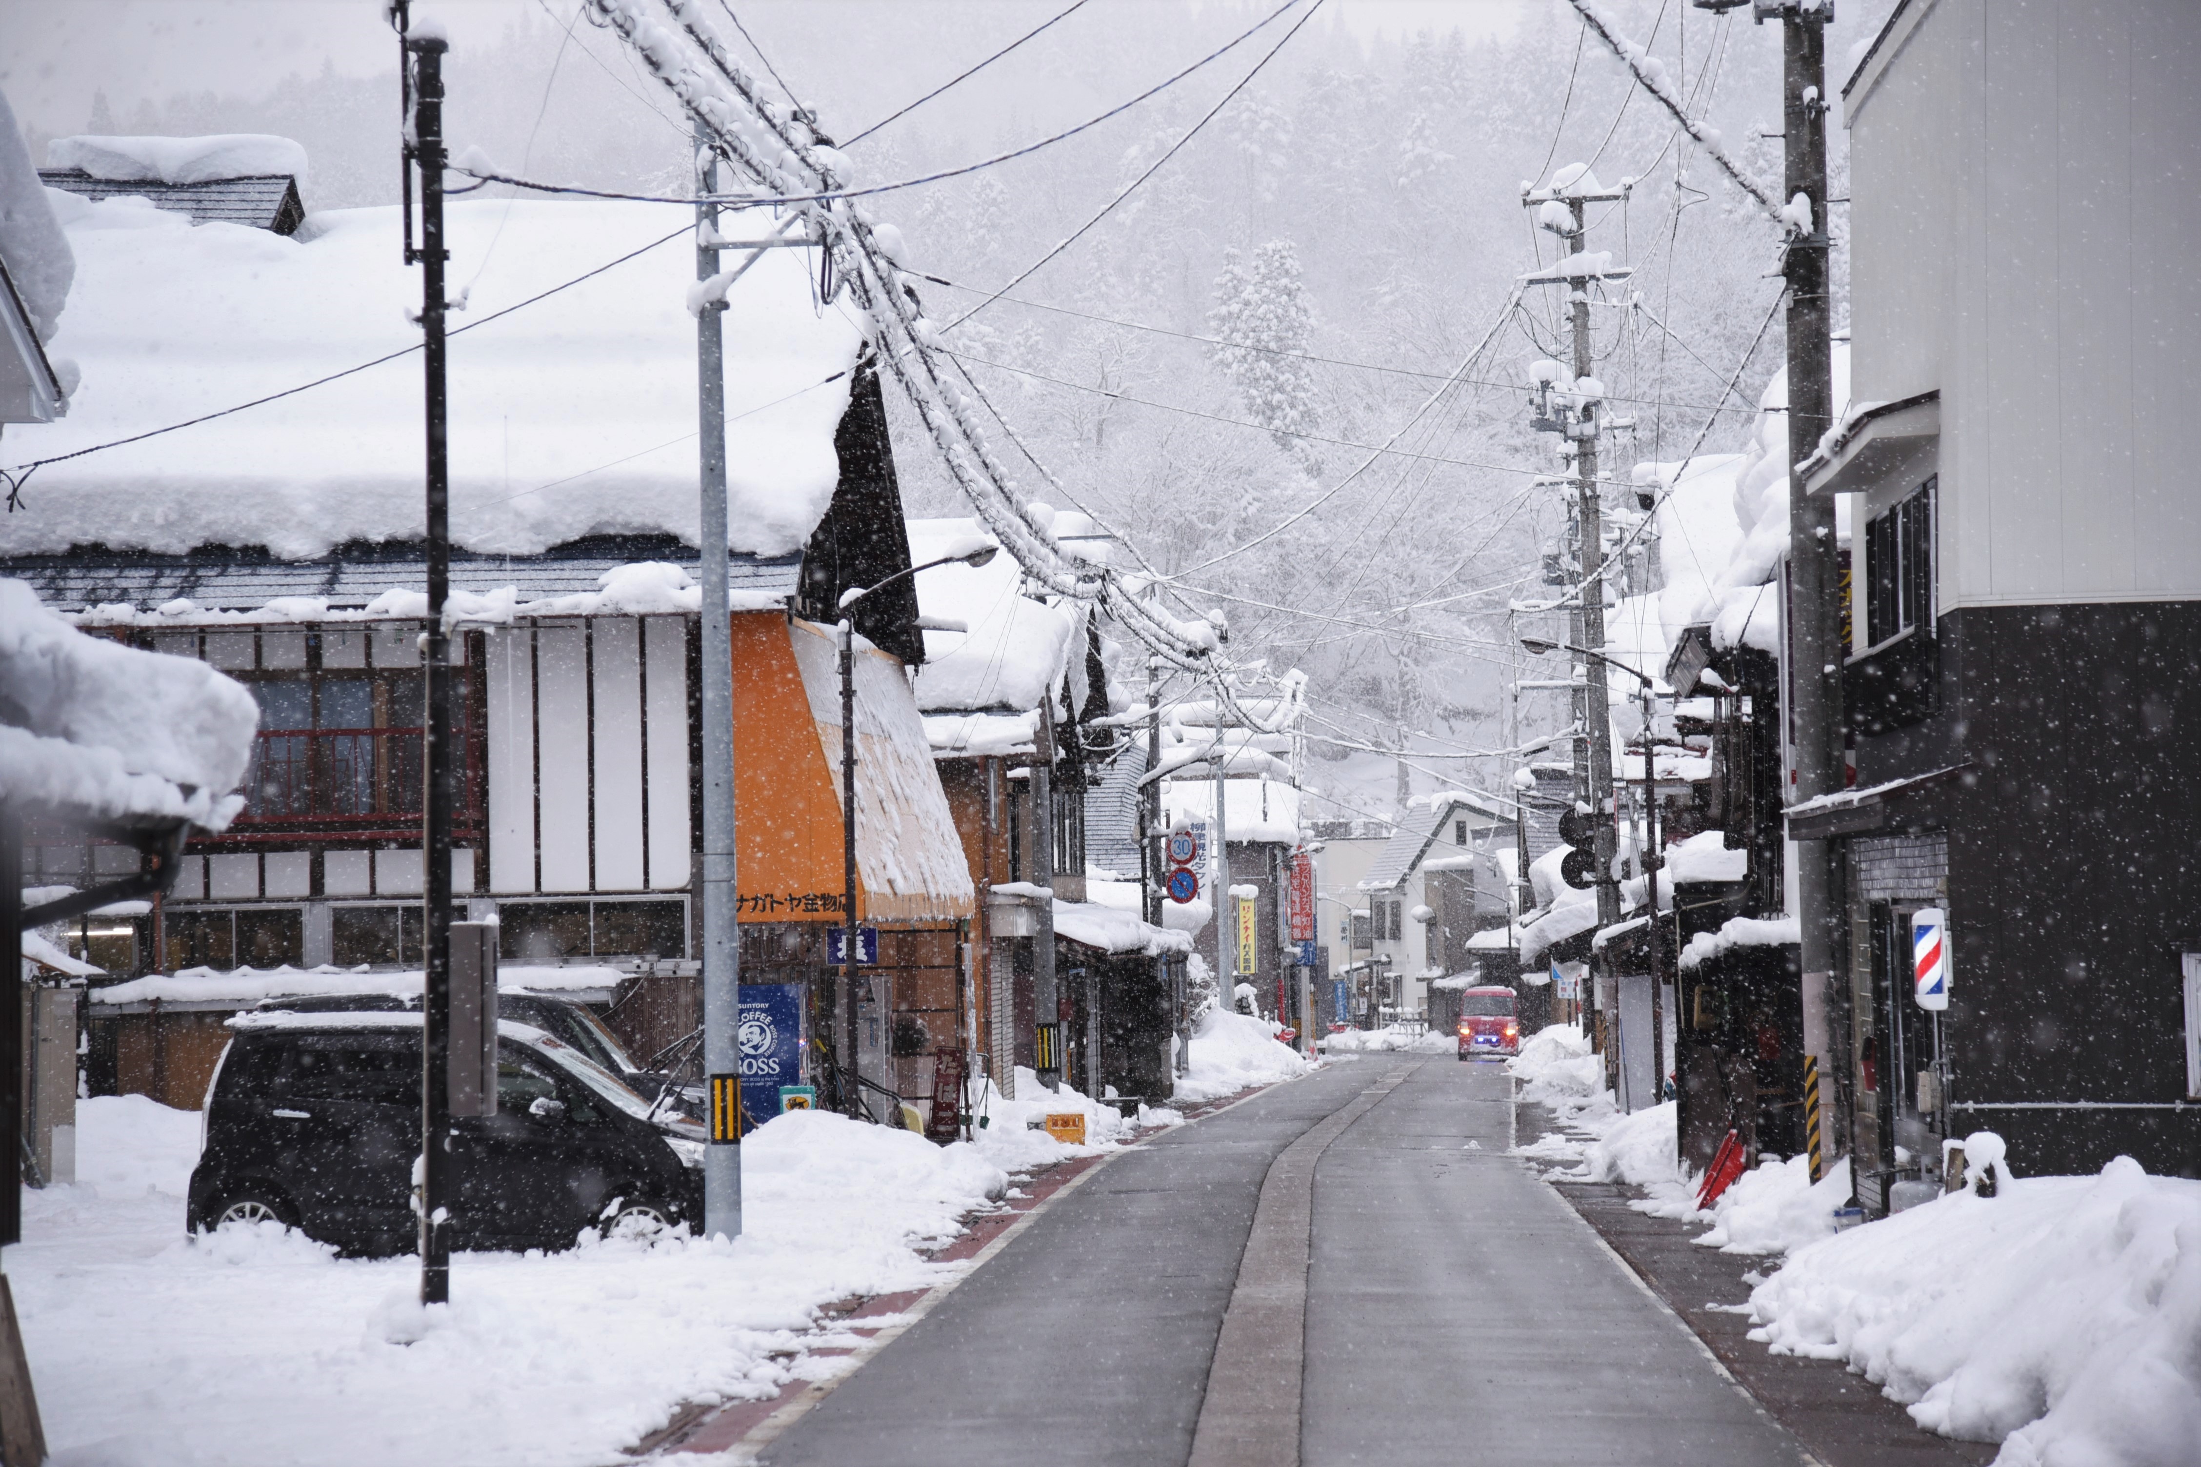
[[[718, 194], [718, 152], [696, 128], [696, 196]], [[696, 279], [718, 275], [718, 205], [696, 205]], [[742, 1236], [742, 937], [733, 853], [733, 618], [726, 605], [726, 299], [696, 312], [702, 449], [702, 1067], [711, 1128], [702, 1155], [704, 1236]]]

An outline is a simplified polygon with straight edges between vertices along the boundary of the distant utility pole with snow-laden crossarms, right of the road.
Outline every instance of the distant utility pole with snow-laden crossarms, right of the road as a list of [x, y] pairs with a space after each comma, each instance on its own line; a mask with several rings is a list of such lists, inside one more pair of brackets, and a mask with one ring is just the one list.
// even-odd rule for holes
[[[1565, 183], [1561, 183], [1565, 178]], [[1538, 402], [1541, 413], [1534, 418], [1534, 427], [1545, 431], [1556, 431], [1561, 440], [1561, 457], [1572, 453], [1574, 457], [1574, 523], [1580, 545], [1580, 596], [1576, 609], [1576, 625], [1580, 627], [1580, 640], [1574, 644], [1591, 655], [1591, 664], [1583, 669], [1583, 688], [1578, 693], [1578, 706], [1583, 713], [1583, 735], [1585, 741], [1576, 748], [1583, 750], [1583, 761], [1587, 763], [1587, 794], [1589, 809], [1596, 820], [1594, 856], [1598, 862], [1598, 926], [1613, 926], [1620, 922], [1620, 882], [1613, 878], [1613, 853], [1618, 849], [1616, 820], [1620, 812], [1613, 803], [1613, 719], [1607, 699], [1607, 682], [1602, 666], [1596, 666], [1596, 658], [1605, 653], [1605, 512], [1598, 499], [1598, 433], [1605, 427], [1605, 398], [1602, 391], [1594, 391], [1594, 361], [1589, 341], [1589, 282], [1591, 279], [1624, 279], [1629, 271], [1624, 266], [1611, 268], [1605, 262], [1591, 260], [1585, 253], [1585, 242], [1589, 235], [1587, 207], [1594, 202], [1616, 202], [1624, 200], [1627, 189], [1602, 189], [1596, 176], [1587, 167], [1567, 167], [1552, 176], [1552, 187], [1530, 189], [1521, 196], [1521, 202], [1536, 209], [1536, 222], [1550, 229], [1567, 246], [1567, 257], [1552, 271], [1538, 271], [1527, 277], [1527, 284], [1561, 286], [1567, 290], [1567, 317], [1572, 334], [1572, 372], [1565, 385], [1565, 402], [1552, 402], [1554, 383], [1547, 378], [1541, 385]], [[1580, 763], [1576, 765], [1580, 768]], [[1596, 981], [1591, 981], [1585, 994], [1587, 1007], [1596, 1010]], [[1611, 1056], [1611, 1051], [1607, 1051]], [[1607, 1058], [1607, 1069], [1611, 1069], [1611, 1058]]]

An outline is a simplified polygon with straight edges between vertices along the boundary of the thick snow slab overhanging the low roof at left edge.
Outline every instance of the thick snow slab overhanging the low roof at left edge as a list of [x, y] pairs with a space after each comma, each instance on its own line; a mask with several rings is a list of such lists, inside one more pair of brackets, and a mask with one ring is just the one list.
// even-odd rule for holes
[[0, 581], [0, 798], [209, 831], [244, 807], [260, 708], [205, 662], [86, 636]]

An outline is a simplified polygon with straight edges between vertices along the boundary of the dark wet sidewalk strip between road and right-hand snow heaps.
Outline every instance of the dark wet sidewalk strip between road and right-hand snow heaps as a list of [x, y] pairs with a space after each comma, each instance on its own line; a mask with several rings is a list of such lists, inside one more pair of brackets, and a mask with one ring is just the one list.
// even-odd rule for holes
[[[1550, 1130], [1543, 1106], [1519, 1106], [1521, 1144]], [[1686, 1223], [1629, 1207], [1640, 1188], [1554, 1181], [1552, 1190], [1657, 1293], [1712, 1355], [1827, 1467], [1979, 1467], [1994, 1443], [1950, 1441], [1921, 1430], [1862, 1375], [1836, 1361], [1774, 1355], [1752, 1342], [1750, 1300], [1759, 1273], [1778, 1258], [1697, 1247]], [[1745, 1276], [1750, 1276], [1745, 1280]]]

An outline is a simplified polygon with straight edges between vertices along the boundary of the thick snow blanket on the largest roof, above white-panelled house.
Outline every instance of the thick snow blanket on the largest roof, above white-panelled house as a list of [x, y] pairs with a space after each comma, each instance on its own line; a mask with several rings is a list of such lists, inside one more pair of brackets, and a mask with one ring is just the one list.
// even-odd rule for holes
[[[398, 211], [317, 213], [295, 238], [191, 227], [145, 200], [46, 191], [77, 260], [55, 350], [84, 369], [64, 422], [9, 435], [53, 457], [363, 367], [262, 407], [40, 468], [0, 552], [79, 543], [284, 559], [423, 534], [420, 275]], [[693, 211], [460, 200], [447, 209], [451, 537], [535, 554], [588, 534], [693, 543]], [[768, 229], [731, 216], [726, 238]], [[629, 257], [632, 255], [632, 257]], [[618, 262], [618, 264], [614, 264]], [[735, 550], [799, 550], [839, 479], [834, 429], [861, 332], [819, 310], [810, 251], [768, 251], [729, 295]], [[579, 279], [601, 271], [590, 279]], [[579, 284], [572, 284], [579, 282]], [[570, 286], [570, 288], [561, 288]], [[544, 295], [555, 290], [555, 295]], [[533, 297], [544, 297], [533, 304]], [[511, 308], [511, 315], [497, 317]], [[497, 319], [491, 319], [497, 317]]]

